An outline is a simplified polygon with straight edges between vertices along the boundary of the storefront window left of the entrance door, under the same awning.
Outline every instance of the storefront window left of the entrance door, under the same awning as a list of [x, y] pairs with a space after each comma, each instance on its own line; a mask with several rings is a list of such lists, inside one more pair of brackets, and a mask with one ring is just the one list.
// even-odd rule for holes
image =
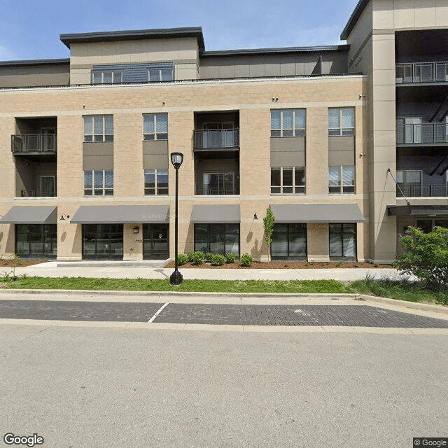
[[123, 259], [123, 224], [83, 224], [83, 259]]

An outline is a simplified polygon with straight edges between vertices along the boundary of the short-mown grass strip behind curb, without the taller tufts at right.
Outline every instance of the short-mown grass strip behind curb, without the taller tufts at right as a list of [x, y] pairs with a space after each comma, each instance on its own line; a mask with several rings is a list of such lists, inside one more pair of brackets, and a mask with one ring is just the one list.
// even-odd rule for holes
[[2, 289], [72, 289], [123, 291], [178, 291], [204, 293], [351, 293], [336, 280], [184, 280], [181, 285], [169, 279], [88, 279], [84, 277], [20, 277], [3, 283]]

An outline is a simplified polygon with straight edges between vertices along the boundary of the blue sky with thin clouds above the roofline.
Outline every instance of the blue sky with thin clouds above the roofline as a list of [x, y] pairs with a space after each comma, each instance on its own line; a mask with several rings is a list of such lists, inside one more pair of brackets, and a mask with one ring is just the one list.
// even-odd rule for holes
[[334, 45], [356, 3], [0, 0], [0, 60], [69, 57], [59, 34], [123, 29], [202, 27], [206, 50]]

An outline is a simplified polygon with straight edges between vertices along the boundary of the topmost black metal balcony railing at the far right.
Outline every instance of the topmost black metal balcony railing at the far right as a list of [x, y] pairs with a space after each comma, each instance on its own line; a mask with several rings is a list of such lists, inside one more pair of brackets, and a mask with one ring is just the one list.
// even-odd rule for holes
[[405, 83], [448, 83], [448, 62], [396, 64], [395, 81]]

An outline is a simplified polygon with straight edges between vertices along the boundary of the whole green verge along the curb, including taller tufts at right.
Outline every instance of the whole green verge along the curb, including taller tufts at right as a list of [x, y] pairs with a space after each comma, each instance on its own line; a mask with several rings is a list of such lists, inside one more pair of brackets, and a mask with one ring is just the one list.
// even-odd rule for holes
[[179, 286], [169, 279], [86, 279], [84, 277], [19, 277], [6, 281], [2, 289], [73, 289], [121, 291], [179, 291], [206, 293], [361, 293], [411, 302], [437, 302], [448, 305], [448, 292], [436, 293], [418, 283], [364, 279], [342, 283], [336, 280], [184, 280]]

